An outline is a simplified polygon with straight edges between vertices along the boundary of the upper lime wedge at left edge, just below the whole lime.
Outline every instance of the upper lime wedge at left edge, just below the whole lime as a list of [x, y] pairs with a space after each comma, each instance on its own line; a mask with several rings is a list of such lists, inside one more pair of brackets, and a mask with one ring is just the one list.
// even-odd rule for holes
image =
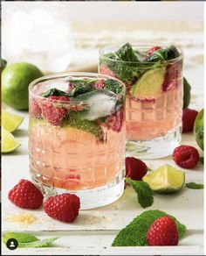
[[2, 125], [3, 128], [8, 132], [14, 132], [17, 130], [17, 127], [22, 124], [23, 119], [23, 117], [2, 111]]

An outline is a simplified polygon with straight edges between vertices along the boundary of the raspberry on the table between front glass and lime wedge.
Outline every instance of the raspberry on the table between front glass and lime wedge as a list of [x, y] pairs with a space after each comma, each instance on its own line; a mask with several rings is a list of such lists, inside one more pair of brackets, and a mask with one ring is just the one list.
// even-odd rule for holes
[[126, 177], [134, 181], [141, 181], [142, 177], [148, 172], [146, 164], [134, 157], [127, 157], [125, 160]]

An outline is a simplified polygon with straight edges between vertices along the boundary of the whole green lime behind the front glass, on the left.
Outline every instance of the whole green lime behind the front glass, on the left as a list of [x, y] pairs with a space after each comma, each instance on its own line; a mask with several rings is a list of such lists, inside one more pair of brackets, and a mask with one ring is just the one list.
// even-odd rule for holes
[[16, 110], [28, 110], [29, 84], [44, 74], [30, 63], [14, 63], [2, 72], [3, 102]]

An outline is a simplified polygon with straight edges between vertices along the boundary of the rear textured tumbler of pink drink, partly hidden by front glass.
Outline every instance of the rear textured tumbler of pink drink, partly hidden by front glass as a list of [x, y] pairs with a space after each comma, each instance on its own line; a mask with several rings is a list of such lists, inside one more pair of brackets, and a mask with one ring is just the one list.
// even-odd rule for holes
[[[134, 53], [142, 56], [150, 48], [133, 45]], [[126, 85], [126, 155], [141, 159], [168, 156], [181, 140], [182, 50], [176, 47], [178, 57], [154, 63], [115, 60], [119, 49], [120, 45], [100, 50], [99, 72]]]

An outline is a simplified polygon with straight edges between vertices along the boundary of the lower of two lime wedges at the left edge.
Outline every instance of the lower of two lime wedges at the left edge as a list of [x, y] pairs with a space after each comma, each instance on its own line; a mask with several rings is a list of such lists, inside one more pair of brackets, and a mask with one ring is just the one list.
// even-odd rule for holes
[[17, 139], [2, 126], [2, 153], [10, 153], [17, 149], [18, 146], [20, 146], [20, 143]]

